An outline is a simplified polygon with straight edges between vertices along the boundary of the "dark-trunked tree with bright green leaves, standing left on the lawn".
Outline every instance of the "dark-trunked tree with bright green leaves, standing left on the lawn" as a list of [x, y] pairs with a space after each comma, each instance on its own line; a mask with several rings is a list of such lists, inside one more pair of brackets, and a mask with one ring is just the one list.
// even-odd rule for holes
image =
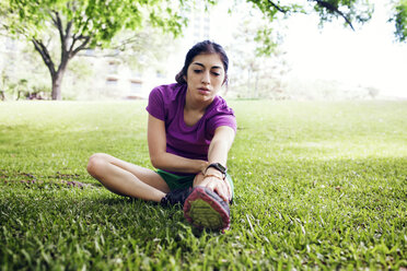
[[[40, 55], [51, 78], [51, 97], [61, 99], [61, 83], [69, 61], [79, 51], [108, 47], [121, 30], [140, 30], [149, 21], [177, 35], [185, 17], [164, 0], [9, 0], [0, 2], [2, 26], [14, 37], [24, 36]], [[49, 46], [59, 37], [60, 55]]]

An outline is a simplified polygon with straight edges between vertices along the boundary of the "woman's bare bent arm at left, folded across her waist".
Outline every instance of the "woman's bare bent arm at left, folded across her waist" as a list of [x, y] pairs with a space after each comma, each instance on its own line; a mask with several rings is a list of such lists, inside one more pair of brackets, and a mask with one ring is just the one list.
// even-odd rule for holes
[[203, 172], [208, 162], [202, 160], [184, 158], [166, 152], [164, 121], [149, 115], [148, 142], [151, 164], [155, 168], [178, 173], [197, 174]]

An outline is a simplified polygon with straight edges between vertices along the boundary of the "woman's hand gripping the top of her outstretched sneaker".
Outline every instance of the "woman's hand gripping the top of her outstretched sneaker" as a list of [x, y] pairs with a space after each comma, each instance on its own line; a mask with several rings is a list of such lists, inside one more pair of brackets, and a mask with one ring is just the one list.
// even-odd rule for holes
[[221, 197], [222, 200], [229, 202], [232, 199], [231, 186], [226, 179], [223, 179], [222, 174], [217, 169], [209, 168], [203, 175], [199, 173], [194, 179], [194, 187], [202, 186], [209, 188]]

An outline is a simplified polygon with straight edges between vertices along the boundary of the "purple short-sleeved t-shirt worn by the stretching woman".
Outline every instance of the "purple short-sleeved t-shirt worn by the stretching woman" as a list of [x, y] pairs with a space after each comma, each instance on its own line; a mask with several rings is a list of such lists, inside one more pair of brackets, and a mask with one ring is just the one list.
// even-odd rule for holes
[[206, 113], [194, 126], [184, 121], [186, 84], [161, 85], [149, 96], [147, 110], [165, 122], [166, 152], [186, 158], [208, 161], [208, 150], [214, 130], [229, 126], [236, 131], [236, 118], [226, 102], [216, 96]]

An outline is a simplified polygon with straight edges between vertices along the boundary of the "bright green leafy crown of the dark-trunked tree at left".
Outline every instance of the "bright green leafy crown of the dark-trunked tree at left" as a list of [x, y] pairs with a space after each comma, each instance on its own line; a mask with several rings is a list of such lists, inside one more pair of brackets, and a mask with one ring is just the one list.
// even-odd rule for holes
[[91, 37], [89, 46], [107, 46], [121, 30], [139, 30], [148, 19], [164, 31], [179, 34], [185, 22], [167, 8], [164, 1], [106, 1], [106, 0], [10, 0], [3, 3], [8, 11], [8, 27], [28, 38], [40, 38], [58, 17], [72, 23], [77, 37]]

